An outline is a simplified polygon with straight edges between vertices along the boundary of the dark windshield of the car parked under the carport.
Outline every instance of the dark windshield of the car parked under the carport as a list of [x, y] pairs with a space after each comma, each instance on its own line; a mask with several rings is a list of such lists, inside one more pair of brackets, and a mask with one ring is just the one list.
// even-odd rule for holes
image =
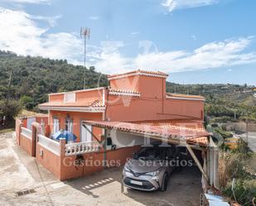
[[136, 160], [161, 160], [161, 151], [157, 148], [142, 148], [133, 158]]

